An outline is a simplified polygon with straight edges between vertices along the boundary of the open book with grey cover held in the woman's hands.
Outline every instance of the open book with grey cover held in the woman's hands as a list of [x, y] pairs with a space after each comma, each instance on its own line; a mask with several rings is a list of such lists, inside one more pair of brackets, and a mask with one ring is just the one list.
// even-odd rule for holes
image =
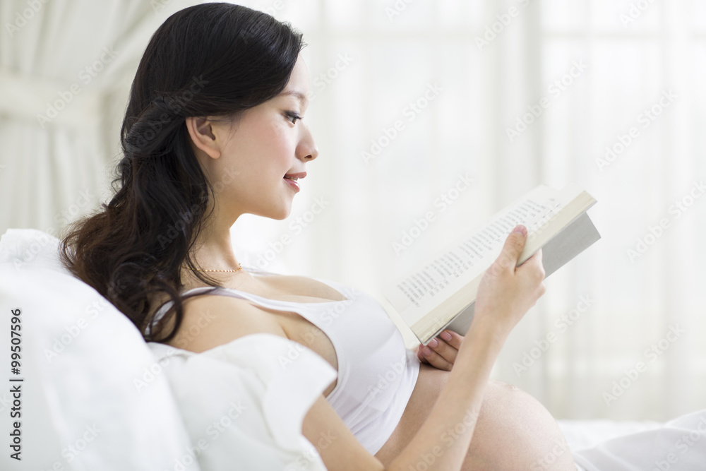
[[494, 215], [474, 234], [466, 234], [411, 274], [383, 288], [421, 343], [448, 328], [465, 335], [473, 318], [483, 273], [500, 255], [510, 231], [527, 227], [517, 265], [542, 249], [545, 277], [601, 238], [586, 210], [596, 200], [576, 184], [561, 191], [540, 185]]

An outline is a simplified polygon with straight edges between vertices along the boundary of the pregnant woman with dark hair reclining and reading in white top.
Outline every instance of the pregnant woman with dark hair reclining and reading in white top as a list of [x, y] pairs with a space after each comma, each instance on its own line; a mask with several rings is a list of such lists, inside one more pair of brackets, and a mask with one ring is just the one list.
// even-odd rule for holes
[[116, 193], [71, 228], [64, 263], [145, 340], [204, 352], [270, 333], [321, 355], [338, 375], [302, 433], [336, 437], [317, 447], [329, 470], [575, 470], [549, 412], [489, 381], [544, 292], [541, 251], [515, 268], [524, 227], [485, 273], [467, 335], [441, 333], [417, 352], [372, 297], [237, 261], [237, 218], [285, 219], [318, 157], [302, 47], [289, 25], [243, 6], [170, 16], [132, 84]]

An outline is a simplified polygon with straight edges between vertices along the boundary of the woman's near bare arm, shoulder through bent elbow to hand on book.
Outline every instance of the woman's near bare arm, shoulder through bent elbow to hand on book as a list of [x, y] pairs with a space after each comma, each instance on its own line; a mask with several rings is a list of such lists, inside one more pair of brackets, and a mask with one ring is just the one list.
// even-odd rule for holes
[[[515, 269], [526, 235], [510, 234], [503, 253], [486, 271], [476, 300], [475, 315], [458, 350], [448, 382], [419, 428], [388, 470], [460, 470], [469, 448], [490, 371], [505, 338], [544, 292], [541, 252]], [[203, 296], [184, 304], [181, 329], [198, 327], [198, 335], [181, 348], [203, 352], [251, 333], [287, 338], [279, 323], [244, 299]], [[208, 323], [200, 313], [208, 313]], [[462, 425], [462, 427], [461, 427]], [[445, 434], [449, 429], [453, 434]], [[385, 470], [357, 441], [323, 395], [304, 417], [302, 434], [315, 446], [329, 471]], [[449, 437], [453, 437], [450, 439]], [[433, 463], [431, 457], [433, 456]], [[426, 460], [425, 460], [426, 458]], [[306, 459], [306, 457], [302, 457]]]

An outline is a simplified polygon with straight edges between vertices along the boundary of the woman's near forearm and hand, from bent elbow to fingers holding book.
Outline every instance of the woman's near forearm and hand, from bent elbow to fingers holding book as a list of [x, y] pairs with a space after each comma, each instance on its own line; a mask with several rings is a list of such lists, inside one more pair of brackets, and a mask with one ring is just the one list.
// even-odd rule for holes
[[[448, 382], [417, 434], [388, 470], [460, 470], [473, 436], [483, 393], [505, 338], [544, 293], [541, 251], [520, 268], [517, 259], [526, 232], [510, 234], [501, 256], [484, 275], [475, 316]], [[318, 449], [329, 471], [383, 470], [320, 398], [304, 418], [303, 433]], [[448, 433], [452, 430], [453, 433]], [[321, 437], [328, 435], [327, 440]], [[335, 438], [333, 438], [335, 437]]]

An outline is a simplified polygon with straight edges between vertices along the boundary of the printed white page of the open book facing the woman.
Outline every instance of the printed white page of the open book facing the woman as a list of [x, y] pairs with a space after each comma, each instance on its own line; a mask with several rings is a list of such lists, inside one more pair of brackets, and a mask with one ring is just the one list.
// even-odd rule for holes
[[558, 192], [539, 186], [527, 196], [496, 214], [491, 221], [470, 237], [460, 239], [453, 249], [397, 280], [383, 292], [385, 298], [410, 325], [426, 314], [451, 292], [459, 290], [467, 280], [483, 273], [500, 254], [505, 239], [518, 224], [527, 226], [528, 234], [542, 228], [558, 210], [571, 201], [576, 188]]

